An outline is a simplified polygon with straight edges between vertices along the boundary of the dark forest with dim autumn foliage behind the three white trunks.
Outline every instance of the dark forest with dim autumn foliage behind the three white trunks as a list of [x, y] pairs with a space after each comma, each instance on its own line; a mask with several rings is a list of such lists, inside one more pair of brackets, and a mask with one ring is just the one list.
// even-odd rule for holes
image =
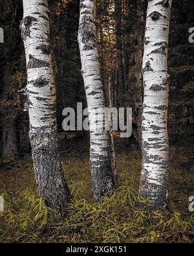
[[[1, 45], [1, 154], [30, 153], [28, 140], [28, 113], [24, 112], [24, 97], [17, 93], [25, 87], [25, 52], [19, 23], [23, 16], [22, 1], [1, 0], [0, 26], [5, 30], [5, 43]], [[50, 6], [50, 32], [58, 100], [58, 128], [62, 130], [62, 110], [76, 109], [77, 102], [86, 106], [85, 91], [80, 69], [80, 53], [77, 41], [79, 1], [48, 1]], [[113, 1], [98, 1], [98, 42], [102, 64], [102, 78], [108, 100], [108, 78], [114, 87], [114, 106], [132, 107], [135, 110], [134, 52], [136, 1], [125, 0], [114, 12]], [[193, 53], [189, 43], [189, 28], [193, 27], [193, 2], [175, 1], [169, 34], [169, 139], [172, 145], [192, 145], [193, 131]], [[146, 3], [144, 5], [146, 12]], [[118, 20], [118, 17], [120, 19]], [[119, 22], [119, 23], [116, 23]], [[119, 24], [120, 26], [116, 26]], [[118, 38], [120, 40], [118, 40]], [[116, 58], [122, 58], [122, 82]], [[134, 119], [135, 122], [135, 119]], [[135, 126], [135, 123], [133, 124]], [[85, 134], [77, 133], [83, 137]], [[187, 146], [188, 148], [188, 146]]]

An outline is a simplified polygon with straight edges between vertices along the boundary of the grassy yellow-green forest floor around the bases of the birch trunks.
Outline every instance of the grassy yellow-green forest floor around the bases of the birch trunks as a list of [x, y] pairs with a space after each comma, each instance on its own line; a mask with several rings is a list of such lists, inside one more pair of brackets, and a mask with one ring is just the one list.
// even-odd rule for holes
[[169, 205], [161, 213], [137, 207], [141, 155], [135, 144], [125, 147], [116, 140], [120, 187], [100, 202], [92, 200], [89, 143], [61, 139], [60, 147], [74, 198], [69, 216], [59, 220], [38, 197], [30, 156], [4, 159], [0, 242], [194, 242], [194, 215], [188, 209], [189, 196], [194, 196], [194, 172], [185, 148], [171, 146]]

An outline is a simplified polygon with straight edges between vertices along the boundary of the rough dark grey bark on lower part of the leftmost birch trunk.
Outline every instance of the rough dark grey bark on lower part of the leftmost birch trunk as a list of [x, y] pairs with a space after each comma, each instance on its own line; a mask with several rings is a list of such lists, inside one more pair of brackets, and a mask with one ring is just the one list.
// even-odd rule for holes
[[59, 160], [56, 132], [33, 129], [30, 132], [32, 159], [39, 188], [39, 196], [47, 198], [47, 205], [65, 216], [70, 191]]

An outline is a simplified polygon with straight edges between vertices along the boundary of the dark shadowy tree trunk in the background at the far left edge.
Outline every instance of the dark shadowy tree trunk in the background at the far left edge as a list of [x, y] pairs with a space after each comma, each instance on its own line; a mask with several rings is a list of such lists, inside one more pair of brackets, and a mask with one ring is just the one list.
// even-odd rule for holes
[[[8, 154], [18, 156], [16, 117], [17, 117], [17, 88], [12, 79], [14, 76], [14, 61], [17, 56], [18, 38], [17, 38], [17, 17], [16, 10], [18, 1], [2, 0], [0, 6], [0, 27], [3, 27], [5, 40], [0, 44], [0, 115], [2, 130], [2, 148], [1, 155]], [[9, 20], [9, 21], [7, 21]]]

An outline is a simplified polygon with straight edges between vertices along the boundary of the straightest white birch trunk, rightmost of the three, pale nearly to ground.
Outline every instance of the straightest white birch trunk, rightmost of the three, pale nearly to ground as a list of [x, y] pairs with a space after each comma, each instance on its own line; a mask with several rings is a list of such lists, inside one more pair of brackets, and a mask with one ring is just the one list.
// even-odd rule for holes
[[142, 175], [140, 198], [153, 209], [165, 209], [168, 189], [167, 47], [172, 1], [148, 2], [143, 58]]

